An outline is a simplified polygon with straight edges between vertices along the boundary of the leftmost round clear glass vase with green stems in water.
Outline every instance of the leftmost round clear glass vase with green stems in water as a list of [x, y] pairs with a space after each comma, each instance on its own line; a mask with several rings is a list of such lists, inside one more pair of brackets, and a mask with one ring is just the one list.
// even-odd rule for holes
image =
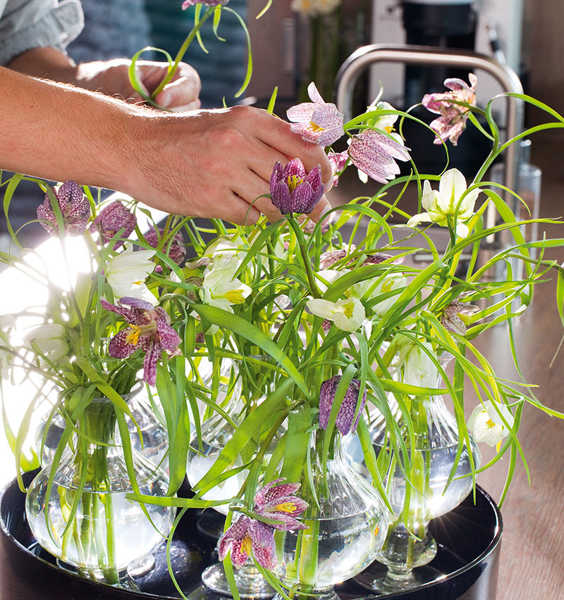
[[[76, 423], [79, 435], [58, 465], [32, 481], [25, 513], [37, 542], [62, 566], [109, 585], [135, 587], [129, 565], [147, 558], [171, 531], [174, 508], [126, 499], [133, 485], [116, 443], [116, 411], [93, 399]], [[140, 494], [166, 496], [168, 478], [133, 451]]]

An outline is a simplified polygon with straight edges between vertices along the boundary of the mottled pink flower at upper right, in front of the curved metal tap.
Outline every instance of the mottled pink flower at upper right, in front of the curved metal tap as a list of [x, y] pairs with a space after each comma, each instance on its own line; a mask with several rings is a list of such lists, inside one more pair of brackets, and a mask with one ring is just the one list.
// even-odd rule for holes
[[[453, 77], [445, 80], [444, 85], [450, 92], [440, 94], [425, 94], [422, 104], [431, 113], [441, 115], [431, 122], [429, 127], [436, 133], [434, 144], [442, 144], [450, 139], [453, 146], [458, 144], [458, 138], [466, 127], [470, 115], [470, 106], [476, 105], [476, 85], [478, 78], [474, 73], [468, 75], [470, 85]], [[463, 102], [469, 106], [459, 104]]]

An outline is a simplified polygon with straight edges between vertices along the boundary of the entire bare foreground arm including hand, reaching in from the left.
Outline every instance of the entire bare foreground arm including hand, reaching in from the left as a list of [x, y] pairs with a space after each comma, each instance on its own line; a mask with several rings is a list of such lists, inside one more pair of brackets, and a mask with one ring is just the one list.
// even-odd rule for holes
[[[331, 167], [319, 146], [252, 107], [163, 113], [0, 68], [0, 168], [116, 189], [149, 206], [254, 223], [276, 161]], [[326, 199], [311, 217], [329, 208]], [[248, 211], [248, 215], [247, 215]]]

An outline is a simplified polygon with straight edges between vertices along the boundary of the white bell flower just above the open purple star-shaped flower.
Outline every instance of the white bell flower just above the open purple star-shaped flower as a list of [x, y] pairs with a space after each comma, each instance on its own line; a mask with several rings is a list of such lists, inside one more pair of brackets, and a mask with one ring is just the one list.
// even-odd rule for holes
[[116, 299], [130, 296], [150, 302], [153, 306], [157, 305], [157, 298], [145, 285], [147, 275], [155, 267], [151, 260], [155, 252], [156, 250], [134, 252], [133, 247], [128, 246], [125, 251], [109, 259], [104, 273]]

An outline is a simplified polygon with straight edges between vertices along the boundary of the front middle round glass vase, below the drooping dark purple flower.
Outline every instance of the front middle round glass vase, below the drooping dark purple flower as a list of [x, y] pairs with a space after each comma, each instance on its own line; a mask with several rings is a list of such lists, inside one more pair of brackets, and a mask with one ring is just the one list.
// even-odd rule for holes
[[300, 488], [309, 503], [300, 520], [308, 528], [275, 533], [276, 575], [304, 599], [336, 600], [333, 586], [364, 570], [384, 544], [388, 510], [376, 489], [343, 459], [340, 435], [324, 463], [324, 434], [312, 432], [312, 479], [305, 474]]

